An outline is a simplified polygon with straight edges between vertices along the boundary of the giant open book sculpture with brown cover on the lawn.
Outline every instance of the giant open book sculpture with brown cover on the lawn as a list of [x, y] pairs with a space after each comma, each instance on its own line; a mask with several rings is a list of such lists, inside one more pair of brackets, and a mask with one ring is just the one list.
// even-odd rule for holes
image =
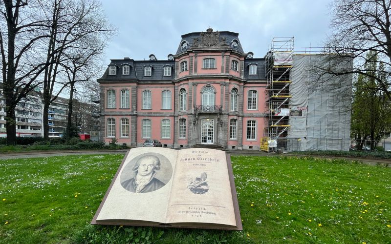
[[133, 148], [91, 224], [242, 230], [230, 157], [205, 148]]

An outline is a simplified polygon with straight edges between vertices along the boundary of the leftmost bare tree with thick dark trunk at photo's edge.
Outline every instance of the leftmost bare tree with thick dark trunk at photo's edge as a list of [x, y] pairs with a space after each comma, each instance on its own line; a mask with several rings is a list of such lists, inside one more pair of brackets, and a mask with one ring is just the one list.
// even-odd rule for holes
[[39, 53], [49, 23], [42, 11], [27, 0], [0, 1], [0, 51], [6, 106], [7, 144], [16, 143], [15, 107], [40, 85], [37, 78], [47, 66]]

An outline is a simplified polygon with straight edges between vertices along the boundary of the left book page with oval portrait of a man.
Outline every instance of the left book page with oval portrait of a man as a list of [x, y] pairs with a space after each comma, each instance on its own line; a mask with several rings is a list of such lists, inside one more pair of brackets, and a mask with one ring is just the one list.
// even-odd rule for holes
[[130, 150], [96, 221], [140, 220], [165, 223], [177, 150]]

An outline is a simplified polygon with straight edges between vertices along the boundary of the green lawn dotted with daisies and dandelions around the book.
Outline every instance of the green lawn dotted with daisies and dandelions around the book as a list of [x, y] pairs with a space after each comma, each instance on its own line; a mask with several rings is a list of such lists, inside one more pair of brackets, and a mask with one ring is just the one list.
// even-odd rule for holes
[[232, 157], [242, 232], [90, 225], [123, 156], [1, 160], [0, 243], [391, 242], [390, 168], [296, 157]]

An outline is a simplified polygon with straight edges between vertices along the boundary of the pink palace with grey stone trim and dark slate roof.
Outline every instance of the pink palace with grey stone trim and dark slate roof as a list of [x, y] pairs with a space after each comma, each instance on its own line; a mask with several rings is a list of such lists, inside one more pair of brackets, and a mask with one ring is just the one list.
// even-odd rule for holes
[[238, 36], [209, 28], [182, 35], [167, 60], [111, 60], [98, 79], [101, 140], [259, 150], [267, 126], [265, 59], [245, 53]]

